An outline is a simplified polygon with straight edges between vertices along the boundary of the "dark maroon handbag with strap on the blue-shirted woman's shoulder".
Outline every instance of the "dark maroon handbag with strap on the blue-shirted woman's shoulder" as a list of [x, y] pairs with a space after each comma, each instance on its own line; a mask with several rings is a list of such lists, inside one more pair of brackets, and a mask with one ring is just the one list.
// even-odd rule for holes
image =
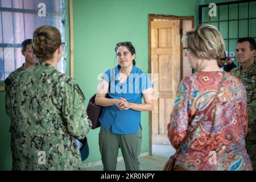
[[[111, 69], [112, 72], [112, 79], [110, 81], [110, 83], [113, 81], [114, 78], [114, 69]], [[109, 90], [110, 90], [110, 84], [109, 84]], [[108, 94], [106, 94], [106, 97], [108, 96]], [[97, 127], [101, 126], [101, 123], [98, 119], [100, 119], [102, 111], [103, 111], [103, 106], [98, 106], [95, 104], [95, 98], [96, 98], [96, 94], [94, 94], [90, 100], [89, 103], [87, 105], [87, 115], [88, 118], [90, 119], [90, 121], [92, 121], [92, 129], [97, 129]]]

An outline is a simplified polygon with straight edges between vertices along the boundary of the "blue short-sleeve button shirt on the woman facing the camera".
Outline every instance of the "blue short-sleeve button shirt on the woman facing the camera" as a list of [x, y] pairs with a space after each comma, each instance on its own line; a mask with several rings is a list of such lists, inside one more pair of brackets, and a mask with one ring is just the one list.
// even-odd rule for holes
[[[108, 98], [119, 99], [122, 97], [127, 102], [142, 104], [142, 91], [153, 86], [147, 73], [133, 66], [129, 77], [122, 83], [118, 80], [119, 69], [120, 66], [117, 65], [117, 67], [108, 69], [102, 75], [102, 78], [108, 83], [111, 82]], [[115, 105], [107, 106], [104, 107], [99, 120], [107, 131], [112, 128], [114, 134], [133, 134], [138, 131], [141, 124], [141, 111], [133, 109], [119, 110]]]

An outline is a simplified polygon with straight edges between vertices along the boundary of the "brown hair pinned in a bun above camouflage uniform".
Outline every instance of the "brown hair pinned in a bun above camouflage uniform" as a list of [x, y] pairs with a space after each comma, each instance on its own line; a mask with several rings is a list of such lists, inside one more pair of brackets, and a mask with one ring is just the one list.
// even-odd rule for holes
[[36, 28], [33, 33], [32, 49], [41, 62], [51, 59], [60, 44], [61, 35], [56, 27], [44, 25]]

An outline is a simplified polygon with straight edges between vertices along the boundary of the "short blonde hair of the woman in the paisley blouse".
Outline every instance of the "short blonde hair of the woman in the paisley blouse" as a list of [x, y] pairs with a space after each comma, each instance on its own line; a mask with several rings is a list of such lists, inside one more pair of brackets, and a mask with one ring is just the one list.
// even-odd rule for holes
[[188, 31], [182, 43], [197, 57], [219, 60], [225, 51], [225, 43], [221, 33], [210, 24], [199, 25]]

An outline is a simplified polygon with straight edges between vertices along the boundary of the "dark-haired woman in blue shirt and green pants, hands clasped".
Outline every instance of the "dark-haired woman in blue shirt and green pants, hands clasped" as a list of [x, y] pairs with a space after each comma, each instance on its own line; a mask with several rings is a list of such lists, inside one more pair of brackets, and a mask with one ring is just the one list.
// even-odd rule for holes
[[135, 49], [130, 42], [117, 43], [115, 53], [118, 65], [102, 75], [95, 100], [104, 106], [99, 134], [101, 159], [104, 171], [114, 171], [121, 148], [126, 170], [138, 171], [141, 111], [153, 109], [152, 83], [147, 73], [135, 66]]

